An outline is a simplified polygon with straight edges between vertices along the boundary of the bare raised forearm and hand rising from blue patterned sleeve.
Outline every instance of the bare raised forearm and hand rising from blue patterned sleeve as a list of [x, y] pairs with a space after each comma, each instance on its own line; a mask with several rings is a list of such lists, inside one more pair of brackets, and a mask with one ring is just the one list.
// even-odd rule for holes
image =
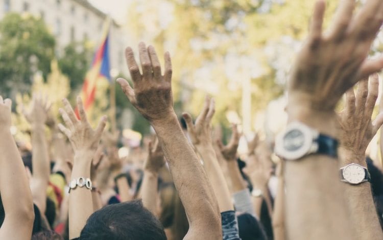
[[211, 118], [215, 112], [215, 103], [213, 99], [206, 97], [205, 104], [200, 115], [193, 124], [192, 116], [189, 113], [184, 113], [183, 118], [187, 125], [187, 132], [192, 139], [193, 145], [197, 152], [201, 155], [204, 162], [206, 174], [209, 177], [210, 183], [214, 189], [214, 194], [217, 197], [218, 205], [221, 212], [234, 210], [233, 203], [230, 197], [230, 191], [225, 181], [225, 176], [222, 173], [218, 163], [216, 153], [214, 152], [211, 138]]

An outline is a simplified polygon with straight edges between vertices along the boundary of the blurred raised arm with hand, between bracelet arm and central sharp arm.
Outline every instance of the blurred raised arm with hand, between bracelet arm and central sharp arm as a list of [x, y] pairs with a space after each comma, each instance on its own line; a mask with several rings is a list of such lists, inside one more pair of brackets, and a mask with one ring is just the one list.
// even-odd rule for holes
[[158, 140], [149, 142], [148, 158], [143, 165], [141, 186], [142, 204], [154, 215], [158, 216], [158, 171], [165, 164], [162, 148]]

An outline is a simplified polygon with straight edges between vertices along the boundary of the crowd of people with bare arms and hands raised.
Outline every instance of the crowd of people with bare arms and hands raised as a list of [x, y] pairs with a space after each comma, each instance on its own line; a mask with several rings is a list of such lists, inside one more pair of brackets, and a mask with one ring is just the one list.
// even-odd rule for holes
[[366, 156], [383, 124], [383, 101], [372, 119], [383, 57], [368, 57], [383, 1], [357, 12], [341, 1], [326, 32], [324, 2], [288, 76], [286, 130], [275, 142], [256, 134], [246, 155], [236, 125], [227, 145], [212, 134], [213, 98], [195, 121], [176, 115], [170, 54], [162, 68], [143, 42], [140, 65], [126, 49], [133, 86], [116, 81], [155, 134], [127, 158], [106, 116], [92, 128], [77, 98], [54, 119], [42, 95], [23, 110], [30, 151], [11, 134], [12, 102], [0, 97], [0, 239], [383, 239], [383, 174]]

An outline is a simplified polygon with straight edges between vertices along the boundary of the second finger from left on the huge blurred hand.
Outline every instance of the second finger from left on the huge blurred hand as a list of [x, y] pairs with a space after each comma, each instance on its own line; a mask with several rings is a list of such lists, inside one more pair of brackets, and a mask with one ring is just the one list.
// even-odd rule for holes
[[352, 13], [355, 7], [355, 0], [343, 0], [339, 5], [333, 27], [329, 31], [329, 36], [341, 38], [345, 35], [350, 25]]

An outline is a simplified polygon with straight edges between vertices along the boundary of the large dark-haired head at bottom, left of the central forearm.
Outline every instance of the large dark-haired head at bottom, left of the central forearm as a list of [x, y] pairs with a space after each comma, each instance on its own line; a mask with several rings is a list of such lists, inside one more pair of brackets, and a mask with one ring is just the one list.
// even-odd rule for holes
[[141, 200], [118, 203], [95, 211], [81, 231], [81, 240], [166, 240], [161, 223]]

